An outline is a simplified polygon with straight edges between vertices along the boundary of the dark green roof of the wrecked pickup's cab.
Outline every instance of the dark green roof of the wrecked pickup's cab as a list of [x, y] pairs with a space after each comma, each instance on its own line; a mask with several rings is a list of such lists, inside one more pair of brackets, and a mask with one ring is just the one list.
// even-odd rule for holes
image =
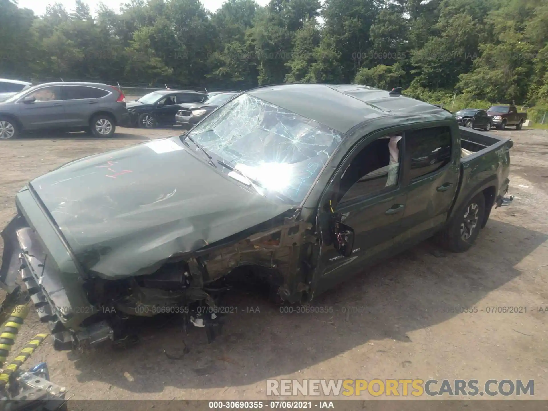
[[361, 84], [277, 84], [247, 92], [341, 133], [381, 117], [416, 117], [435, 113], [453, 118], [446, 110], [386, 90]]

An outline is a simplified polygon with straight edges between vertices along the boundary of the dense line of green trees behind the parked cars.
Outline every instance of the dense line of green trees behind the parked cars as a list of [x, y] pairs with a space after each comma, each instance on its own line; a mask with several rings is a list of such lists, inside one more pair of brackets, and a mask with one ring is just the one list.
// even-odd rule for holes
[[548, 101], [548, 0], [228, 0], [215, 13], [131, 0], [95, 16], [76, 0], [39, 17], [0, 0], [0, 39], [0, 73], [19, 78], [357, 82], [430, 100]]

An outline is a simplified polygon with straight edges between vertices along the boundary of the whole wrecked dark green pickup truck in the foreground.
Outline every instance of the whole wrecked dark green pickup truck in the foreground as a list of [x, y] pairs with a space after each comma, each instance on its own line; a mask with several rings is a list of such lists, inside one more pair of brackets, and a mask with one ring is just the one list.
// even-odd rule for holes
[[231, 278], [307, 303], [434, 235], [464, 252], [504, 201], [511, 147], [398, 90], [259, 87], [184, 135], [28, 182], [0, 281], [21, 276], [58, 350], [158, 313], [213, 340]]

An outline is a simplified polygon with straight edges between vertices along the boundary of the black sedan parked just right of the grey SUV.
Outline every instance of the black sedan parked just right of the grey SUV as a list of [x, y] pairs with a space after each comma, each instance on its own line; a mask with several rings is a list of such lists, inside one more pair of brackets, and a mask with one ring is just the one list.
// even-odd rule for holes
[[189, 90], [157, 90], [127, 104], [131, 124], [142, 128], [175, 124], [179, 104], [206, 100], [207, 93]]

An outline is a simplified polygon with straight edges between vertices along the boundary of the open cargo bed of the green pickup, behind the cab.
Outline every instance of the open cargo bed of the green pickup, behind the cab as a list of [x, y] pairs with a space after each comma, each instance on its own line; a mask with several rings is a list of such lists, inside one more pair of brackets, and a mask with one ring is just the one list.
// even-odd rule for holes
[[472, 153], [460, 159], [459, 187], [449, 216], [479, 187], [486, 185], [495, 186], [495, 190], [490, 191], [493, 198], [488, 199], [489, 204], [493, 205], [499, 196], [504, 196], [508, 191], [510, 182], [509, 150], [513, 141], [465, 127], [459, 127], [459, 131], [461, 148]]

